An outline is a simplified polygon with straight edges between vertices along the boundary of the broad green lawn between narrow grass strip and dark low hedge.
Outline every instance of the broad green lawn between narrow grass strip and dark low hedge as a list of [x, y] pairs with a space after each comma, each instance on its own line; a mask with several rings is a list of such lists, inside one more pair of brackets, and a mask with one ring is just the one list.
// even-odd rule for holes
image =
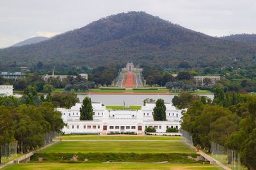
[[62, 141], [41, 151], [42, 153], [194, 153], [177, 141]]

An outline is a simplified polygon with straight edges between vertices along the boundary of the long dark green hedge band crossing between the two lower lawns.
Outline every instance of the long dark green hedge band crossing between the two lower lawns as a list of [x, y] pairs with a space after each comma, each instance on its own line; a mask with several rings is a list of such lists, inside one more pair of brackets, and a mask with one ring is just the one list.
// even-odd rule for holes
[[[199, 156], [197, 153], [35, 153], [31, 161], [37, 162], [163, 162], [170, 163], [198, 163], [202, 160], [189, 159]], [[76, 157], [77, 160], [72, 160]], [[86, 161], [84, 161], [86, 160]]]

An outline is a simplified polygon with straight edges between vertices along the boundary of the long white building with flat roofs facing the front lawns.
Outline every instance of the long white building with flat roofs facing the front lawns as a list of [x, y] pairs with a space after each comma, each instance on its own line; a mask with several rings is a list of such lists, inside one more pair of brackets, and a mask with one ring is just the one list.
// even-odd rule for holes
[[166, 132], [168, 127], [180, 129], [181, 111], [166, 103], [166, 121], [154, 121], [155, 103], [146, 103], [141, 110], [107, 110], [102, 103], [92, 103], [93, 120], [79, 120], [82, 103], [76, 103], [70, 110], [57, 108], [62, 113], [63, 122], [67, 124], [62, 131], [65, 134], [83, 133], [134, 133], [143, 134], [145, 128], [154, 127], [157, 132]]

